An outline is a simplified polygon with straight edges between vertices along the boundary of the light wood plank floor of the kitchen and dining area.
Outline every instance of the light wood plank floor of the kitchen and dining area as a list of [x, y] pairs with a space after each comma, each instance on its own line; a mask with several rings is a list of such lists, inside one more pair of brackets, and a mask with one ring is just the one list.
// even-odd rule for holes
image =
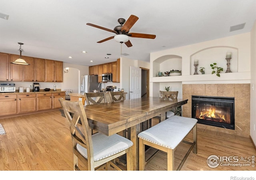
[[[0, 170], [72, 170], [73, 155], [69, 124], [59, 111], [0, 119], [6, 135], [0, 135]], [[188, 135], [188, 140], [192, 139]], [[198, 154], [190, 153], [181, 170], [256, 170], [252, 166], [210, 168], [210, 155], [251, 158], [256, 150], [249, 138], [234, 137], [198, 129]], [[175, 165], [187, 145], [175, 151]], [[151, 150], [150, 150], [151, 151]], [[150, 153], [148, 152], [148, 154]], [[145, 170], [166, 170], [166, 154], [159, 151]]]

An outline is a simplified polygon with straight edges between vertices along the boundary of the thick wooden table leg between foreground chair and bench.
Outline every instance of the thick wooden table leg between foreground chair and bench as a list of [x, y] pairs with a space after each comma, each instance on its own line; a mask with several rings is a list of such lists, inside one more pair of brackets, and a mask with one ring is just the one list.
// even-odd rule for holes
[[131, 141], [133, 142], [132, 146], [132, 159], [133, 159], [133, 169], [139, 170], [139, 138], [138, 134], [140, 133], [140, 124], [131, 127]]

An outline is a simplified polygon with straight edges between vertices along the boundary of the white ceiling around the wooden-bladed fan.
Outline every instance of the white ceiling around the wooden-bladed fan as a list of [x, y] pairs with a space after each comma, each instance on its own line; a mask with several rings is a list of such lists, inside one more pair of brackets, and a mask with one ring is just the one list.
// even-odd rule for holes
[[[156, 38], [130, 38], [133, 46], [122, 44], [122, 53], [149, 62], [150, 52], [250, 32], [256, 0], [0, 0], [0, 13], [9, 15], [0, 18], [0, 52], [19, 54], [22, 42], [22, 56], [92, 66], [116, 61], [121, 44], [96, 43], [115, 34], [88, 22], [114, 29], [118, 18], [138, 16], [130, 32]], [[244, 29], [230, 32], [242, 23]]]

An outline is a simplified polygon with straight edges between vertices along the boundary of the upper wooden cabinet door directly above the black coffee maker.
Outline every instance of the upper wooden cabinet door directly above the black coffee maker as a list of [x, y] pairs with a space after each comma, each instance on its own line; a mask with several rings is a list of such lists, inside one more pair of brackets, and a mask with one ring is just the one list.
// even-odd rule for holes
[[45, 81], [45, 60], [40, 58], [35, 58], [35, 80], [36, 82]]

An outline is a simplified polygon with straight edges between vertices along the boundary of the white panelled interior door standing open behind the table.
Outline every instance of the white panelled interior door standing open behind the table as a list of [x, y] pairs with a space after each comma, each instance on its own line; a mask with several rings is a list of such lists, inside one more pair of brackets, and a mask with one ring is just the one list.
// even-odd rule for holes
[[130, 66], [130, 99], [141, 98], [141, 68]]

